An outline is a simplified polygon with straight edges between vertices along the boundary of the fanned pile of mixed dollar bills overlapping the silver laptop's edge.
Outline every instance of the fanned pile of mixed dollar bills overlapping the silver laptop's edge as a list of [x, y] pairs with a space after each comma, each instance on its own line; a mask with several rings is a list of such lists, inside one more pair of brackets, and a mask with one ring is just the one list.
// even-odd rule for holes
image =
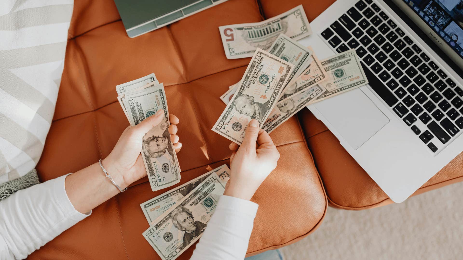
[[301, 5], [219, 31], [227, 58], [252, 56], [243, 78], [220, 96], [227, 106], [212, 128], [232, 142], [242, 143], [251, 119], [270, 133], [307, 105], [368, 83], [355, 50], [320, 61], [296, 42], [312, 33]]

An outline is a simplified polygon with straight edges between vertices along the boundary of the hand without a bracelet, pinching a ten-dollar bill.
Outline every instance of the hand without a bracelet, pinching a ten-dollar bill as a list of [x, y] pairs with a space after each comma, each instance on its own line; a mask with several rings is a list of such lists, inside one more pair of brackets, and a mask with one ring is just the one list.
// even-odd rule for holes
[[[224, 195], [250, 200], [257, 188], [275, 169], [280, 153], [269, 134], [259, 129], [256, 119], [249, 122], [241, 146], [232, 142], [230, 157], [230, 180]], [[257, 148], [256, 148], [257, 142]]]

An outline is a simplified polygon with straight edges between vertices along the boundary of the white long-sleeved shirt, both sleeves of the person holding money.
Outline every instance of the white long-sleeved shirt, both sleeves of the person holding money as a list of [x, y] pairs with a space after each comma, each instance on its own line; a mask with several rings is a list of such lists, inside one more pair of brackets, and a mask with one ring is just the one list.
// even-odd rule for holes
[[[0, 203], [0, 259], [24, 259], [90, 214], [75, 210], [67, 175], [20, 190]], [[258, 205], [222, 196], [191, 259], [243, 259]]]

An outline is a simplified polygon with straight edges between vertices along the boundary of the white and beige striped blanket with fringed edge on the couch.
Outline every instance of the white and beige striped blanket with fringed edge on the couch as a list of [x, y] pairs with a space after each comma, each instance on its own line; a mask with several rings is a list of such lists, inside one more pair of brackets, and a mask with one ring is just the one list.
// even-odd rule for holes
[[38, 183], [73, 3], [0, 1], [0, 201]]

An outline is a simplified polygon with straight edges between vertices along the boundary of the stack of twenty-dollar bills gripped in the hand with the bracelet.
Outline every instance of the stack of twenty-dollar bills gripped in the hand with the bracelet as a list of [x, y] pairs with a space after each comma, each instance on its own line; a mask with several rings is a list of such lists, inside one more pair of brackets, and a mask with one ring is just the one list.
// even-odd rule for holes
[[180, 182], [180, 166], [169, 134], [169, 110], [163, 83], [154, 73], [116, 86], [118, 100], [131, 126], [163, 109], [161, 123], [143, 137], [141, 155], [154, 191]]

